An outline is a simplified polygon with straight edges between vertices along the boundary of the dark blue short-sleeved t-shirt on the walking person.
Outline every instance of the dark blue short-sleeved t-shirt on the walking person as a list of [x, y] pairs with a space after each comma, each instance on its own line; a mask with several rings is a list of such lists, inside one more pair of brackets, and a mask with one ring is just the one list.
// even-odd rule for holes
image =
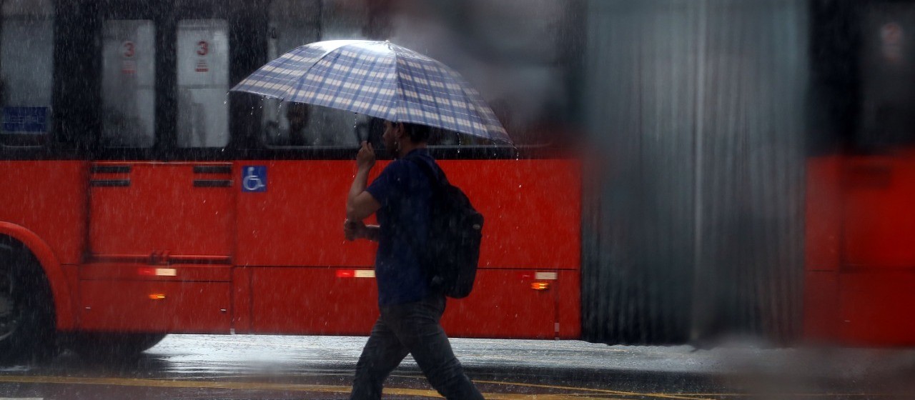
[[[425, 149], [416, 149], [407, 157], [436, 163]], [[432, 200], [429, 178], [413, 161], [394, 160], [366, 191], [382, 205], [377, 212], [381, 236], [375, 255], [378, 303], [422, 300], [429, 293], [429, 285], [413, 246], [425, 247]], [[414, 238], [413, 245], [410, 237]]]

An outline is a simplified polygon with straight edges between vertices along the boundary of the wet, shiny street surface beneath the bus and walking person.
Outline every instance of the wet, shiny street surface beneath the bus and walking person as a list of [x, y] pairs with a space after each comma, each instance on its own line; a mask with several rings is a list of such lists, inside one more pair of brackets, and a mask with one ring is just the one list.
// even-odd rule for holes
[[[0, 399], [346, 398], [362, 337], [171, 335], [130, 362], [0, 369]], [[452, 340], [490, 399], [911, 398], [912, 350]], [[390, 398], [436, 397], [409, 357]]]

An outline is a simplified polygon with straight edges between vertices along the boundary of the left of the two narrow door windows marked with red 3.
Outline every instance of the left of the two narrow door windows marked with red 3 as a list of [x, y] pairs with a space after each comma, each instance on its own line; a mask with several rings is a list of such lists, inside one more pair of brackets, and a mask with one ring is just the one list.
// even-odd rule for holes
[[152, 21], [105, 21], [102, 34], [103, 145], [153, 145], [155, 60], [156, 36]]

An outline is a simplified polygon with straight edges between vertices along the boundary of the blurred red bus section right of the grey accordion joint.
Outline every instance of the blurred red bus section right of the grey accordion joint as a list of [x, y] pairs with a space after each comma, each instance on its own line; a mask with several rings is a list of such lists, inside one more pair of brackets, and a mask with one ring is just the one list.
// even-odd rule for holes
[[915, 344], [915, 7], [820, 5], [807, 162], [804, 334]]

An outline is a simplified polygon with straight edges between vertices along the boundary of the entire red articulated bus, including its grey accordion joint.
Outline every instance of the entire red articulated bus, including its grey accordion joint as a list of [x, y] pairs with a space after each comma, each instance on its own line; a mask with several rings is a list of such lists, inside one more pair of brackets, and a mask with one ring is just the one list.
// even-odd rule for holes
[[[433, 145], [486, 217], [450, 335], [915, 343], [910, 5], [510, 3], [4, 2], [0, 358], [368, 333], [341, 223], [373, 128], [228, 93], [336, 38], [425, 40], [519, 143]], [[603, 158], [543, 144], [579, 131]]]

